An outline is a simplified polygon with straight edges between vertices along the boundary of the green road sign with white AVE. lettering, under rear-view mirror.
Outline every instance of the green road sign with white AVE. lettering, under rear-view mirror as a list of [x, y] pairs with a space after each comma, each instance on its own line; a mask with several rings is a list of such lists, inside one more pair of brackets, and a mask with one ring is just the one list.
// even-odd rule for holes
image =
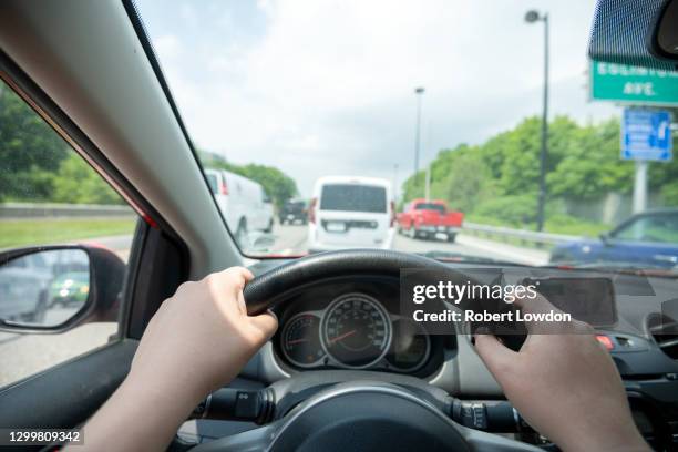
[[590, 63], [590, 97], [628, 104], [678, 105], [678, 72]]

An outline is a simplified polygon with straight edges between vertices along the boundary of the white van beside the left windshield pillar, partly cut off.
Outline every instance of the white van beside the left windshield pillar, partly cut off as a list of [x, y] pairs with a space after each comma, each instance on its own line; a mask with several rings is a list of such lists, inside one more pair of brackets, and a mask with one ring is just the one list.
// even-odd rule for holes
[[273, 203], [261, 185], [224, 170], [205, 170], [205, 177], [228, 229], [239, 245], [246, 243], [248, 232], [270, 233]]

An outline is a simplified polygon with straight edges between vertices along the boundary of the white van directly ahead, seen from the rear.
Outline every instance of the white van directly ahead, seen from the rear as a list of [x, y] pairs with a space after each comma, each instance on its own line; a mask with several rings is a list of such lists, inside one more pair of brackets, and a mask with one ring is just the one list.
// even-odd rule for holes
[[396, 212], [387, 179], [327, 176], [309, 206], [309, 253], [345, 248], [389, 249]]

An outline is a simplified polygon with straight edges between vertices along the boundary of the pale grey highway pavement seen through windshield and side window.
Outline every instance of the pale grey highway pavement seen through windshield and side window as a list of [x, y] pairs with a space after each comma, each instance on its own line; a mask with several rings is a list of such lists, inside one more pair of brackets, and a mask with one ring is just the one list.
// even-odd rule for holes
[[[276, 225], [273, 232], [275, 243], [271, 250], [282, 256], [302, 255], [306, 246], [307, 227], [302, 225]], [[99, 237], [81, 243], [105, 246], [126, 261], [132, 236]], [[544, 251], [499, 244], [486, 239], [460, 234], [456, 243], [421, 240], [397, 235], [393, 249], [409, 253], [430, 250], [463, 254], [494, 259], [506, 259], [528, 265], [546, 263]], [[48, 312], [48, 320], [58, 322], [68, 318], [74, 309], [55, 308]], [[61, 335], [11, 335], [0, 333], [0, 387], [23, 377], [48, 369], [59, 362], [82, 355], [106, 343], [116, 332], [115, 323], [88, 323]]]

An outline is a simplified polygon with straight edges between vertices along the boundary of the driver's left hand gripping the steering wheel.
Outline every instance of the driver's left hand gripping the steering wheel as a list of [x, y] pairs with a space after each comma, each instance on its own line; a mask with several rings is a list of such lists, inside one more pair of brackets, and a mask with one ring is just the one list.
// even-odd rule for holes
[[134, 356], [130, 378], [167, 380], [198, 403], [233, 380], [278, 327], [274, 315], [247, 316], [243, 267], [185, 282], [157, 310]]

